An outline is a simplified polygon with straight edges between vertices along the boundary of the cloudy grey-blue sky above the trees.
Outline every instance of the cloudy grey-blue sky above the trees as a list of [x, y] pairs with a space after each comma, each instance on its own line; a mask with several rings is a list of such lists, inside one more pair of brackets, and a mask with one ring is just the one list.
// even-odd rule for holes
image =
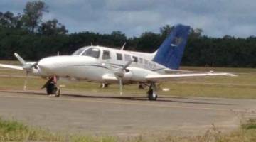
[[[1, 0], [0, 11], [23, 13], [28, 0]], [[45, 0], [49, 13], [69, 33], [122, 31], [127, 37], [178, 23], [203, 29], [203, 35], [246, 38], [256, 35], [254, 0]]]

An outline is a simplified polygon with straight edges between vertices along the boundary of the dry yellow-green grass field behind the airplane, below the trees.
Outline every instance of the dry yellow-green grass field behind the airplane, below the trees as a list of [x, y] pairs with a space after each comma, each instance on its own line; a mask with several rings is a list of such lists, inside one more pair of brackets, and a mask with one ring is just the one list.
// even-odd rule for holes
[[[1, 61], [0, 63], [18, 64], [16, 61]], [[188, 80], [174, 80], [161, 83], [161, 88], [169, 88], [169, 92], [159, 91], [159, 95], [171, 95], [179, 97], [225, 97], [235, 99], [256, 99], [256, 70], [251, 68], [225, 68], [225, 67], [181, 67], [181, 70], [196, 70], [216, 72], [232, 72], [238, 77], [197, 77]], [[0, 89], [23, 89], [25, 72], [17, 70], [7, 70], [0, 68]], [[12, 77], [12, 75], [23, 75], [23, 77]], [[27, 89], [40, 89], [46, 80], [39, 77], [28, 78]], [[105, 92], [109, 94], [119, 94], [117, 85], [110, 85], [109, 88], [100, 89], [100, 84], [87, 82], [67, 82], [59, 81], [59, 84], [65, 84], [67, 90], [80, 90], [86, 92]], [[137, 84], [125, 85], [124, 94], [146, 95], [146, 90], [138, 89]]]

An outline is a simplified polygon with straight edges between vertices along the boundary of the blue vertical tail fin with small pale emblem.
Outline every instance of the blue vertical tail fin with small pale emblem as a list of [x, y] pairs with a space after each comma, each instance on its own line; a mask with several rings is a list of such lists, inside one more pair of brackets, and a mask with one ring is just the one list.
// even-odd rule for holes
[[164, 40], [153, 58], [154, 62], [177, 70], [188, 40], [190, 26], [178, 24]]

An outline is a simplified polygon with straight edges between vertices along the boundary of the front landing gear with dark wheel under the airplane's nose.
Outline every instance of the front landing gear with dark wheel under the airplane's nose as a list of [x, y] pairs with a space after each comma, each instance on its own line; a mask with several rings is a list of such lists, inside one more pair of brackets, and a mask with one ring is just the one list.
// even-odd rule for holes
[[46, 88], [46, 93], [48, 95], [53, 94], [55, 97], [60, 97], [60, 89], [57, 86], [57, 77], [50, 77], [41, 89], [43, 88]]

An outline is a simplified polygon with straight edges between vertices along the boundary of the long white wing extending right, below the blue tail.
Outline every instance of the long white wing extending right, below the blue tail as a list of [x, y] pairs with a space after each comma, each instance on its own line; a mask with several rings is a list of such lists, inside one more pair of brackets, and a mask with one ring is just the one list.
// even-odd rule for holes
[[180, 79], [180, 78], [188, 78], [188, 77], [206, 77], [206, 76], [217, 76], [217, 75], [226, 75], [226, 76], [236, 76], [230, 73], [213, 73], [213, 72], [207, 72], [207, 73], [192, 73], [192, 74], [174, 74], [174, 75], [147, 75], [145, 78], [147, 81], [150, 82], [168, 82], [172, 81], [174, 79]]

